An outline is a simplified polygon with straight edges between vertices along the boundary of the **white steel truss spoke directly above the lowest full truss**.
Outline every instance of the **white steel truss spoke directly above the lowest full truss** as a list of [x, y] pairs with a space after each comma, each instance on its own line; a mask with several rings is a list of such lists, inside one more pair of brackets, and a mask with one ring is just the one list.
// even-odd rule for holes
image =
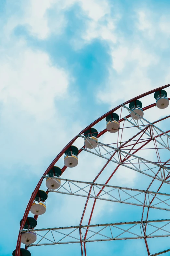
[[[49, 179], [47, 176], [44, 176], [44, 178]], [[170, 194], [87, 181], [60, 179], [63, 181], [61, 182], [60, 188], [57, 190], [48, 189], [49, 192], [88, 197], [89, 190], [92, 185], [89, 198], [170, 211]], [[99, 196], [96, 196], [100, 190], [102, 190], [102, 193]], [[154, 203], [151, 204], [150, 202], [153, 198]]]

